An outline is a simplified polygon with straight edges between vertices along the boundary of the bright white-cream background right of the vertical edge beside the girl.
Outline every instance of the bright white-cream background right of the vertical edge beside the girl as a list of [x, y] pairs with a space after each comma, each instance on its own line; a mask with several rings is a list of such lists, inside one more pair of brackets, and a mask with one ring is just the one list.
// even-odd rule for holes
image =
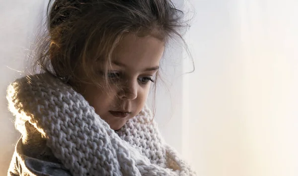
[[199, 176], [297, 176], [298, 1], [191, 3], [183, 154]]

